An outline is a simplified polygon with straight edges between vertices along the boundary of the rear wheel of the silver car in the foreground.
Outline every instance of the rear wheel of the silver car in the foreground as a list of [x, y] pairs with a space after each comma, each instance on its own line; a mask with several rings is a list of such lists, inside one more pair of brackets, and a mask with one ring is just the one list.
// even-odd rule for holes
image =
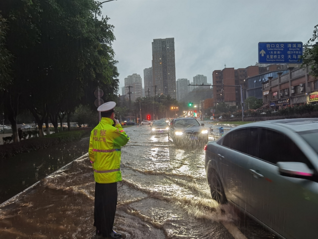
[[216, 200], [220, 204], [225, 204], [227, 200], [225, 197], [224, 188], [216, 170], [211, 168], [209, 169], [208, 182], [212, 199]]

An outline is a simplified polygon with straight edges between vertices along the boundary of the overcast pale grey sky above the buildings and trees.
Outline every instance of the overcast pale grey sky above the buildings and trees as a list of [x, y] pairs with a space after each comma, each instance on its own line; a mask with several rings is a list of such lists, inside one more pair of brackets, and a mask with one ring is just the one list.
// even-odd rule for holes
[[[101, 1], [101, 0], [100, 0]], [[258, 42], [302, 41], [318, 24], [318, 0], [116, 0], [102, 15], [115, 26], [113, 44], [124, 78], [151, 67], [151, 42], [175, 38], [176, 79], [258, 61]], [[119, 92], [121, 94], [121, 90]]]

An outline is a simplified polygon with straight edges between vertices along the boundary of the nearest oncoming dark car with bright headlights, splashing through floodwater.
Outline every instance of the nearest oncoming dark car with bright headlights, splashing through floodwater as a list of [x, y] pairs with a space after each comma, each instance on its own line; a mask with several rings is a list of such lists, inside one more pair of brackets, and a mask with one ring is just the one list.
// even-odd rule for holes
[[194, 118], [177, 118], [172, 120], [168, 130], [169, 140], [176, 145], [198, 144], [208, 141], [208, 130]]

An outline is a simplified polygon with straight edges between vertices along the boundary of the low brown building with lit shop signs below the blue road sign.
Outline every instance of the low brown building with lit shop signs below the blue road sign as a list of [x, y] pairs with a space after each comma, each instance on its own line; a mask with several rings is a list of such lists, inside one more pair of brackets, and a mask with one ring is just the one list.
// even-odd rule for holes
[[276, 111], [284, 105], [317, 104], [318, 80], [309, 72], [310, 66], [289, 67], [287, 72], [278, 72], [275, 77], [268, 76], [262, 82], [262, 107]]

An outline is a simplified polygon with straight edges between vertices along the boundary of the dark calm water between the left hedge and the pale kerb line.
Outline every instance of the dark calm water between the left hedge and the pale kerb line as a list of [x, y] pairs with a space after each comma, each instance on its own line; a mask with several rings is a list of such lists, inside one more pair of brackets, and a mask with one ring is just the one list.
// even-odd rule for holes
[[0, 204], [87, 152], [89, 138], [0, 161]]

